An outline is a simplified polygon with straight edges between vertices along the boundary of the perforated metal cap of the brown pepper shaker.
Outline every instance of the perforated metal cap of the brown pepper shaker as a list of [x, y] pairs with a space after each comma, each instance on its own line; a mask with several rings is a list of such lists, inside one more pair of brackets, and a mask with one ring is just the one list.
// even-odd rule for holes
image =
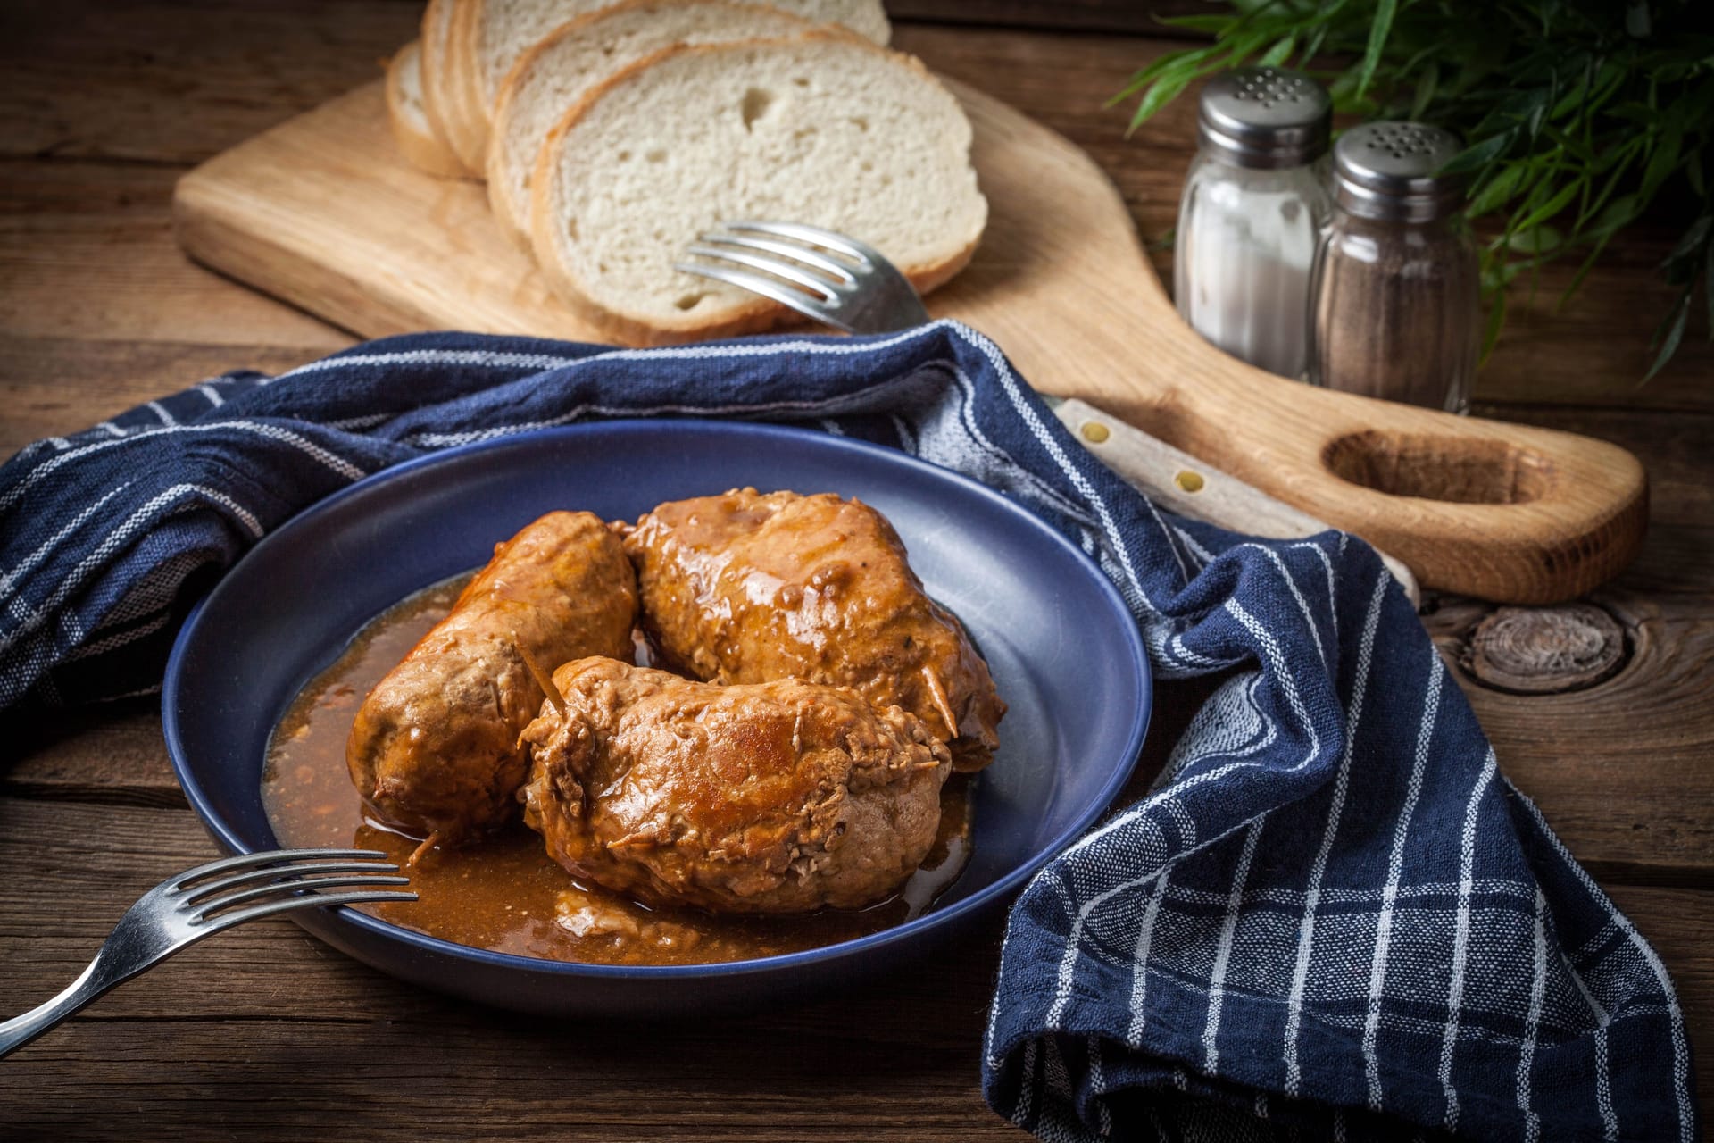
[[1462, 151], [1428, 123], [1364, 123], [1333, 146], [1333, 200], [1361, 218], [1431, 223], [1464, 202], [1462, 175], [1435, 175]]

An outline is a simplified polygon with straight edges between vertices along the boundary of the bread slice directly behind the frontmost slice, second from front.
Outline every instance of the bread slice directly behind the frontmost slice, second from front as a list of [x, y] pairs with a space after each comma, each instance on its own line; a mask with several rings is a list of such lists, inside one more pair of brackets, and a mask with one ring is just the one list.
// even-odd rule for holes
[[662, 48], [783, 39], [814, 27], [780, 9], [723, 0], [631, 0], [560, 24], [512, 65], [500, 86], [488, 139], [494, 218], [514, 242], [530, 245], [530, 175], [542, 141], [615, 72]]

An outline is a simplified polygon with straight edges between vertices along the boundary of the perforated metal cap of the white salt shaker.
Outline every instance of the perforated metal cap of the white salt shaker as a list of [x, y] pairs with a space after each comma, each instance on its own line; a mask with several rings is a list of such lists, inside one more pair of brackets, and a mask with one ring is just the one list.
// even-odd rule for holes
[[1304, 166], [1327, 154], [1333, 101], [1327, 87], [1284, 67], [1239, 67], [1202, 89], [1196, 135], [1234, 166]]

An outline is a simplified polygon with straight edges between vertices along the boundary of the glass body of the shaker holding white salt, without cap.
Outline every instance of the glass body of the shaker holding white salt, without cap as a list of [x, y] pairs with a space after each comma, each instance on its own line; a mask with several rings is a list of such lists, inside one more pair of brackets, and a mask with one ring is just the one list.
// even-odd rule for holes
[[1172, 296], [1191, 329], [1282, 377], [1309, 365], [1309, 276], [1332, 209], [1313, 166], [1195, 158], [1179, 202]]

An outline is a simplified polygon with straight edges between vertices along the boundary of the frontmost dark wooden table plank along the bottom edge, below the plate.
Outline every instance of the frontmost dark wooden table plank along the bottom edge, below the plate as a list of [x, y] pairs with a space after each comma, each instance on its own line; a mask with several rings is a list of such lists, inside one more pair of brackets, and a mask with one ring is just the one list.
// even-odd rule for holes
[[[185, 980], [189, 987], [197, 982]], [[977, 1033], [920, 1045], [864, 1021], [908, 1002], [816, 1008], [816, 1028], [704, 1021], [646, 1028], [466, 1013], [418, 1023], [77, 1021], [0, 1080], [0, 1124], [77, 1140], [1027, 1140], [975, 1080]], [[403, 1009], [405, 1006], [401, 1006]], [[432, 1054], [422, 1049], [432, 1044]], [[51, 1054], [48, 1054], [51, 1050]], [[449, 1064], [447, 1061], [456, 1061]], [[139, 1109], [146, 1109], [137, 1114]], [[14, 1136], [17, 1138], [17, 1136]]]

